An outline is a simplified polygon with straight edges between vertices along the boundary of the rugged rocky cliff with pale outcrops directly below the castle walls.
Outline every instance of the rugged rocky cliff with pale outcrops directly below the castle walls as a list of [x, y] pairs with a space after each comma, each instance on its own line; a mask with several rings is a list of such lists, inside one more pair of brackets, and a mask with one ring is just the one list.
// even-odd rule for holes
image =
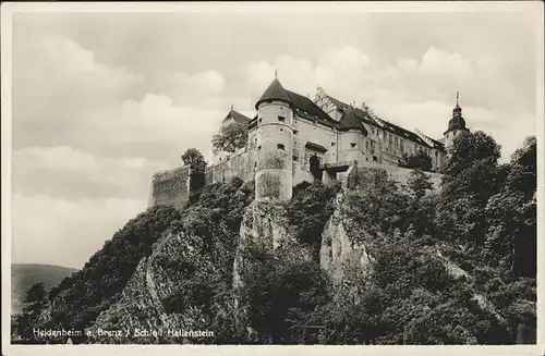
[[[509, 303], [511, 292], [461, 268], [456, 246], [431, 237], [429, 224], [413, 218], [434, 196], [415, 205], [395, 183], [363, 183], [303, 184], [290, 201], [278, 201], [254, 200], [254, 183], [234, 180], [207, 186], [175, 213], [153, 208], [167, 210], [136, 219], [119, 237], [133, 244], [123, 248], [135, 267], [118, 261], [123, 253], [112, 246], [125, 243], [106, 244], [60, 287], [47, 318], [87, 328], [90, 343], [294, 343], [308, 323], [326, 328], [306, 334], [308, 342], [510, 337], [509, 320], [519, 311], [506, 315], [497, 305]], [[155, 237], [135, 245], [147, 231]], [[529, 296], [517, 305], [532, 320], [532, 283], [518, 283]], [[66, 316], [69, 305], [87, 309]], [[429, 323], [438, 331], [422, 339], [419, 330]], [[190, 330], [203, 332], [183, 333]]]

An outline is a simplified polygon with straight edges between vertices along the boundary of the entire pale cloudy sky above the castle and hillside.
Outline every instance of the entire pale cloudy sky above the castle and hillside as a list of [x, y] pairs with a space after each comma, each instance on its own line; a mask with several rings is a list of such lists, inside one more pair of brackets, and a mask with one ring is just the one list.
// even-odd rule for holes
[[146, 209], [155, 172], [209, 157], [231, 103], [254, 115], [275, 70], [434, 138], [460, 91], [502, 161], [536, 134], [536, 9], [281, 9], [14, 13], [12, 261], [83, 267]]

